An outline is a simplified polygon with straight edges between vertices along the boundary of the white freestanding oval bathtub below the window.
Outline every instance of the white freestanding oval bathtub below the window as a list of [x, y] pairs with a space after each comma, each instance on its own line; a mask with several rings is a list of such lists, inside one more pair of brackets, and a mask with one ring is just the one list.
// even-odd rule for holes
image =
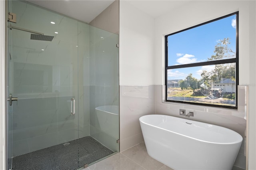
[[139, 120], [148, 154], [174, 170], [231, 170], [243, 140], [228, 128], [173, 116]]

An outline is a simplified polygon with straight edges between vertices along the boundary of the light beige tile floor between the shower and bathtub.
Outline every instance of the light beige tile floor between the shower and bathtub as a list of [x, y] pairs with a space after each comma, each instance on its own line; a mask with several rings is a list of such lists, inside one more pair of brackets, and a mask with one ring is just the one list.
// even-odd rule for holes
[[173, 170], [151, 158], [145, 143], [142, 142], [128, 150], [110, 156], [83, 170]]

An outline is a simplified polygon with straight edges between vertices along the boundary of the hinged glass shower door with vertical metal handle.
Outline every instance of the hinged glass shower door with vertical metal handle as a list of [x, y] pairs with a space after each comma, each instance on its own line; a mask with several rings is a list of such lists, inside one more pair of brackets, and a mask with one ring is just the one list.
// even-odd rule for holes
[[18, 98], [8, 108], [9, 169], [76, 169], [78, 22], [9, 2], [8, 91]]

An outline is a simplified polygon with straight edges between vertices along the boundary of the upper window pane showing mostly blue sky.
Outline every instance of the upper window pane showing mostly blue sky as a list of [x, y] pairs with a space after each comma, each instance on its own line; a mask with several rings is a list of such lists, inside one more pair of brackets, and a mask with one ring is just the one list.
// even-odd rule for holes
[[168, 66], [236, 58], [236, 14], [168, 36]]

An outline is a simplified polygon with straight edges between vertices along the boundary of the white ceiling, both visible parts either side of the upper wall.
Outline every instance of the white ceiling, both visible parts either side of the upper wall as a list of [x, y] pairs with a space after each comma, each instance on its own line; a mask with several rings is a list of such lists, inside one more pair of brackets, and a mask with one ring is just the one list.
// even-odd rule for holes
[[[90, 23], [114, 0], [28, 0], [58, 13]], [[122, 0], [120, 0], [122, 1]], [[189, 0], [127, 0], [130, 4], [157, 18], [170, 10], [182, 6]]]

